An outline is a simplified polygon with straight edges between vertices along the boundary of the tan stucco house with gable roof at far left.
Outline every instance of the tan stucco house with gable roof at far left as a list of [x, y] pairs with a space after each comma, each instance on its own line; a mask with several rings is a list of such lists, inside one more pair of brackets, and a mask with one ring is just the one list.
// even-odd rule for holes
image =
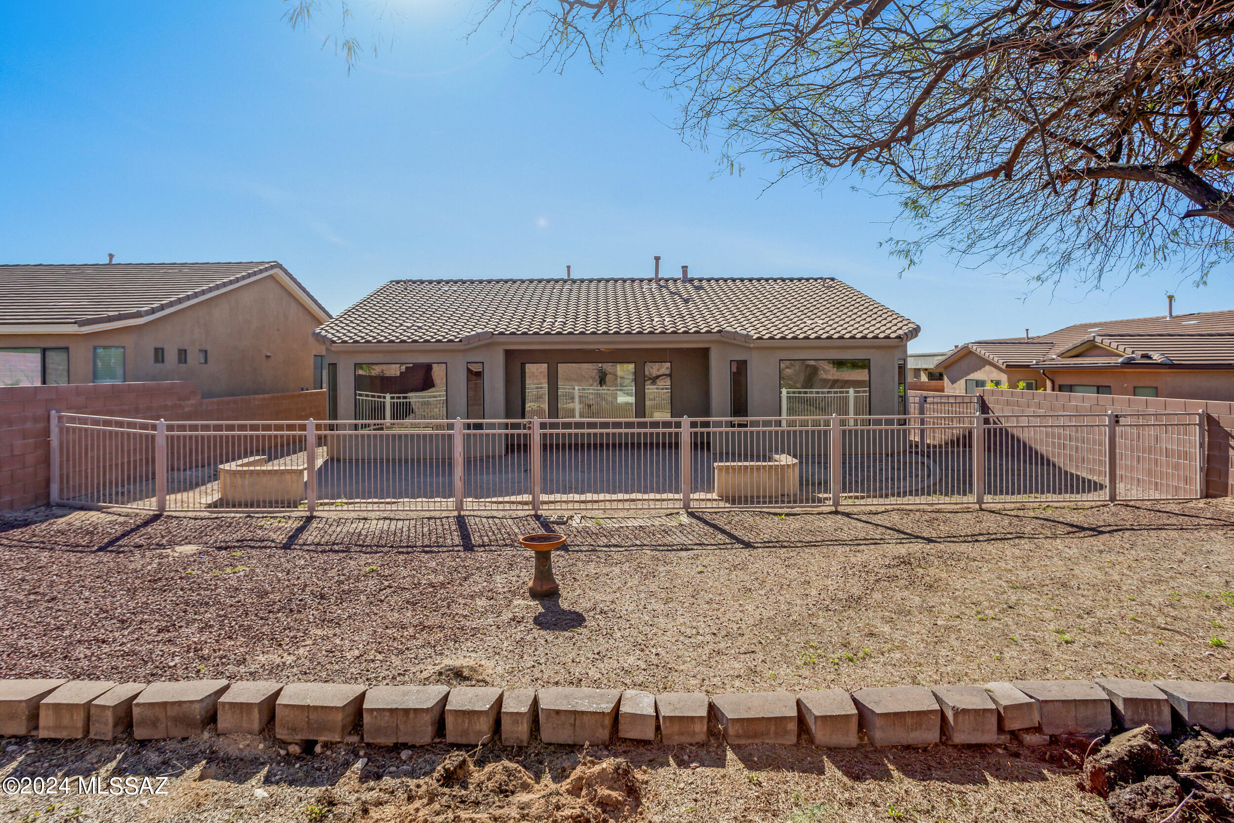
[[322, 387], [331, 315], [278, 263], [0, 265], [0, 386], [193, 380]]

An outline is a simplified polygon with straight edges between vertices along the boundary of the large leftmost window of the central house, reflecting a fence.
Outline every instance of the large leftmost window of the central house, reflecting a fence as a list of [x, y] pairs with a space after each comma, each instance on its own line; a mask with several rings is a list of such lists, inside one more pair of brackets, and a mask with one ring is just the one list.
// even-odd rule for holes
[[355, 420], [445, 420], [445, 364], [358, 363]]

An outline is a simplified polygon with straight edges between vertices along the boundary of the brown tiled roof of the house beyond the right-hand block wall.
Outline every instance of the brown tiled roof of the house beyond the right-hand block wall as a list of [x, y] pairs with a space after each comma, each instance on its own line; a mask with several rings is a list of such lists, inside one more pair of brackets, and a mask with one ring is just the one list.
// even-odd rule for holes
[[[1108, 349], [1108, 355], [1090, 355], [1092, 344]], [[939, 365], [964, 352], [1022, 369], [1234, 368], [1234, 311], [1075, 323], [1030, 338], [974, 341], [950, 352]]]

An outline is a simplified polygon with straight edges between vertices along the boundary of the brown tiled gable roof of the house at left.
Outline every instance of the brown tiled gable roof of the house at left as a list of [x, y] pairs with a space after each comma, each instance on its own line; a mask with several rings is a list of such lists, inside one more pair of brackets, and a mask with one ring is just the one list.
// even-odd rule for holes
[[0, 333], [131, 326], [249, 280], [276, 276], [318, 320], [331, 315], [279, 263], [0, 265]]

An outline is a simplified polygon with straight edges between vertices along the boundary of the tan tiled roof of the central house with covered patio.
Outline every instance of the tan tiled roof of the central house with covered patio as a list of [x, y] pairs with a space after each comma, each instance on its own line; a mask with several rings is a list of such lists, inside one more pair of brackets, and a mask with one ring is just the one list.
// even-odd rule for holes
[[328, 344], [491, 336], [903, 339], [921, 327], [834, 278], [391, 280], [313, 334]]

